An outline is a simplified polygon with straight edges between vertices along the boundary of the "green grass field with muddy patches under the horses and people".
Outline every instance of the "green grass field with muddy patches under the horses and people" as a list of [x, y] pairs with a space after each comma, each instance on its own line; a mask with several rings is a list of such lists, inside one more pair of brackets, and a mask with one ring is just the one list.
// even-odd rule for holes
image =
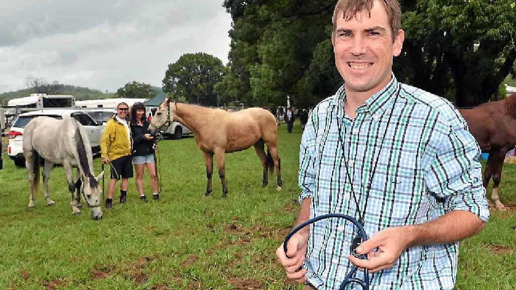
[[[36, 209], [27, 209], [26, 170], [4, 156], [0, 289], [298, 289], [285, 281], [275, 251], [297, 216], [300, 129], [279, 131], [283, 191], [276, 178], [261, 186], [249, 149], [227, 155], [228, 198], [215, 173], [212, 197], [202, 199], [205, 167], [195, 141], [167, 140], [158, 149], [162, 199], [142, 203], [131, 180], [128, 202], [120, 206], [117, 193], [101, 221], [87, 207], [72, 215], [62, 167], [52, 170], [55, 206], [45, 206], [41, 186]], [[515, 165], [504, 167], [500, 195], [516, 203]], [[457, 289], [515, 288], [514, 225], [516, 211], [494, 211], [484, 231], [461, 243]]]

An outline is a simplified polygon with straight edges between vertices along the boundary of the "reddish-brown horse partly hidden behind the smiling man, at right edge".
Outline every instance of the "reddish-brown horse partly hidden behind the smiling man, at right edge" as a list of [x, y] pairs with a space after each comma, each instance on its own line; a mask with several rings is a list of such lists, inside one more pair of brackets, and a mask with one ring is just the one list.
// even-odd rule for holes
[[516, 146], [516, 94], [503, 100], [482, 104], [474, 109], [459, 110], [480, 145], [482, 152], [489, 152], [483, 186], [493, 177], [491, 198], [497, 209], [505, 209], [498, 196], [505, 155]]

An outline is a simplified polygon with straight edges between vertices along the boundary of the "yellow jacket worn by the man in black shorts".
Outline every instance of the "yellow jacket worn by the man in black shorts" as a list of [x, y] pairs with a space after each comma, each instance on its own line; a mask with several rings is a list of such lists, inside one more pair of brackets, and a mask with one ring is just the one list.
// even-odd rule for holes
[[131, 155], [131, 136], [127, 136], [124, 124], [113, 116], [107, 121], [106, 129], [102, 134], [100, 150], [102, 158], [115, 160], [122, 156]]

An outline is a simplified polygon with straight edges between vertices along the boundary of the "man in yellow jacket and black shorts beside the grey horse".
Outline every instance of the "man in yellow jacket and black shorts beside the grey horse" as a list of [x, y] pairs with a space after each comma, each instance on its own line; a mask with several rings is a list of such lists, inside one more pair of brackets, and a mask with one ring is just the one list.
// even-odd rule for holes
[[106, 209], [113, 207], [113, 194], [117, 180], [120, 183], [120, 203], [127, 200], [127, 186], [129, 178], [133, 177], [131, 159], [131, 129], [125, 120], [129, 113], [129, 106], [120, 103], [117, 114], [107, 121], [106, 129], [102, 134], [100, 144], [102, 163], [111, 163], [111, 179], [107, 186]]

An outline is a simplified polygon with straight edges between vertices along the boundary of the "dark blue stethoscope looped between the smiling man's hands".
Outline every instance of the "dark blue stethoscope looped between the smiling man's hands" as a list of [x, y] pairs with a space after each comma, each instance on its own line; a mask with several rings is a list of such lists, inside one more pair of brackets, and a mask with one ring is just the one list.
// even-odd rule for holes
[[[287, 252], [288, 240], [290, 240], [290, 238], [297, 231], [299, 231], [300, 229], [302, 229], [310, 224], [315, 223], [316, 221], [319, 221], [319, 220], [325, 219], [325, 218], [331, 218], [331, 217], [340, 217], [340, 218], [347, 219], [347, 220], [351, 221], [351, 223], [358, 228], [360, 235], [358, 235], [356, 238], [353, 238], [353, 241], [351, 242], [351, 246], [350, 246], [350, 252], [352, 255], [354, 255], [355, 257], [357, 257], [359, 259], [367, 259], [367, 254], [361, 255], [356, 252], [356, 248], [360, 245], [360, 239], [362, 240], [362, 242], [367, 241], [367, 233], [365, 232], [364, 227], [357, 219], [355, 219], [349, 215], [338, 214], [338, 213], [330, 213], [330, 214], [316, 216], [314, 218], [309, 219], [308, 221], [305, 221], [304, 223], [302, 223], [301, 225], [299, 225], [295, 229], [293, 229], [292, 232], [290, 232], [285, 237], [285, 242], [283, 242], [283, 250], [285, 251], [285, 255]], [[362, 279], [353, 277], [355, 275], [355, 273], [357, 272], [357, 269], [358, 269], [357, 266], [353, 266], [351, 271], [349, 271], [349, 273], [346, 275], [346, 277], [344, 277], [344, 281], [341, 283], [341, 286], [338, 288], [339, 290], [344, 290], [346, 288], [346, 286], [351, 283], [359, 284], [360, 286], [362, 286], [362, 290], [369, 290], [369, 270], [364, 268], [364, 277], [366, 279], [362, 280]]]

